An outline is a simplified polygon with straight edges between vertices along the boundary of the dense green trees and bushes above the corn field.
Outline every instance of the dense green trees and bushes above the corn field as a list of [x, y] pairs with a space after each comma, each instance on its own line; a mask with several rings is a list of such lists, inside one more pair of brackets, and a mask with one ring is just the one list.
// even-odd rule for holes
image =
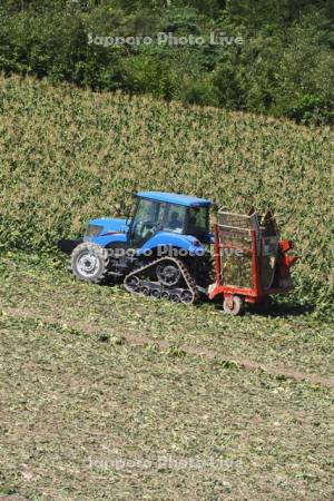
[[2, 0], [0, 71], [331, 124], [333, 18], [325, 0]]

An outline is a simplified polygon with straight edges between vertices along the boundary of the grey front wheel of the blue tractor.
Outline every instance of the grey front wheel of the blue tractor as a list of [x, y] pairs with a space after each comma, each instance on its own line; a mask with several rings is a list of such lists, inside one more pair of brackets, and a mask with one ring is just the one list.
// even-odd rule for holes
[[84, 242], [71, 254], [71, 268], [73, 275], [80, 281], [101, 284], [108, 276], [108, 250], [99, 245]]

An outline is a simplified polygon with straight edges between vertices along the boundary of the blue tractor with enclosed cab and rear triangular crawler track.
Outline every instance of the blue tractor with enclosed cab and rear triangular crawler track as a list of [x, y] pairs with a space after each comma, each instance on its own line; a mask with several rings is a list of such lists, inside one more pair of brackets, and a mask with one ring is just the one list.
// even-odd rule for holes
[[194, 304], [214, 281], [210, 200], [160, 191], [135, 195], [128, 219], [89, 222], [84, 238], [62, 239], [73, 275], [86, 282], [122, 281], [135, 294]]

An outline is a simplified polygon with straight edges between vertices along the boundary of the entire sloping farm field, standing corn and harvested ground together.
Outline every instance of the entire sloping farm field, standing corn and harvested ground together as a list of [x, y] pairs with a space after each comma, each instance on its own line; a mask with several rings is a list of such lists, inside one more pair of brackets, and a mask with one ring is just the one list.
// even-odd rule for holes
[[[333, 132], [0, 78], [0, 499], [333, 499]], [[76, 282], [55, 248], [136, 189], [276, 208], [269, 315]]]

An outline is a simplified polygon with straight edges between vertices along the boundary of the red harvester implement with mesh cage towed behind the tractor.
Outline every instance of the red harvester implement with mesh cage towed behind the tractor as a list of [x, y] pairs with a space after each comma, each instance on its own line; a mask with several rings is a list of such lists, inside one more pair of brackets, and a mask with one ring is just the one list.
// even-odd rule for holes
[[272, 212], [262, 224], [259, 216], [220, 212], [215, 225], [216, 283], [208, 296], [224, 298], [224, 310], [232, 315], [243, 312], [245, 303], [259, 307], [268, 297], [293, 288], [289, 268], [298, 259], [286, 253], [289, 240], [281, 240]]

